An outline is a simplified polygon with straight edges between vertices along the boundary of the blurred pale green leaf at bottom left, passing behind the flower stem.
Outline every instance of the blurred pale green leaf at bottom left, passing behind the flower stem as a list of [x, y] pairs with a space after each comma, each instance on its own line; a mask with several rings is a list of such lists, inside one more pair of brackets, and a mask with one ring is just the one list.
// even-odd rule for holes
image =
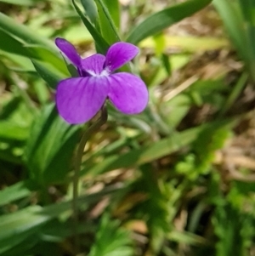
[[[78, 198], [78, 204], [88, 206], [88, 204], [97, 202], [102, 196], [106, 196], [116, 191], [123, 189], [116, 189], [116, 187], [108, 187], [103, 189], [100, 192], [80, 196]], [[114, 196], [114, 195], [113, 195]], [[47, 207], [40, 206], [30, 206], [21, 210], [18, 210], [14, 213], [8, 213], [0, 216], [0, 253], [1, 255], [4, 252], [11, 251], [14, 247], [20, 245], [22, 250], [27, 243], [27, 238], [31, 239], [39, 238], [42, 235], [43, 227], [48, 223], [49, 220], [59, 217], [62, 213], [67, 213], [67, 216], [71, 213], [71, 202], [60, 202], [54, 203]], [[65, 225], [65, 223], [63, 224]], [[45, 226], [45, 229], [48, 230], [48, 226]], [[70, 229], [70, 226], [69, 226]], [[30, 241], [31, 242], [31, 241]], [[37, 239], [32, 242], [37, 242]], [[18, 254], [8, 254], [7, 255], [18, 255]], [[20, 255], [20, 254], [19, 254]]]

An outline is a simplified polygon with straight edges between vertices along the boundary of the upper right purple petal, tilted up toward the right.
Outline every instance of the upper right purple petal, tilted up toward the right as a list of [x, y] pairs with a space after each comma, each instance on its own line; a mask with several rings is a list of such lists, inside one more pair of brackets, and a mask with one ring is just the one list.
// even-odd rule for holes
[[111, 45], [105, 60], [106, 70], [112, 72], [132, 60], [139, 53], [139, 48], [132, 43], [118, 42]]

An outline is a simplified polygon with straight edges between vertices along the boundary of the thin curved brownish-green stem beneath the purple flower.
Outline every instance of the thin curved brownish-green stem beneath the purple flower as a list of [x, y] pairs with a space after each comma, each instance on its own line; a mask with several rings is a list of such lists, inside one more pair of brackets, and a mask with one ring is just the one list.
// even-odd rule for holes
[[72, 211], [73, 211], [73, 219], [74, 219], [74, 252], [75, 255], [80, 251], [80, 241], [78, 236], [78, 207], [77, 207], [77, 198], [78, 198], [78, 183], [79, 183], [79, 173], [82, 165], [82, 155], [84, 151], [84, 147], [89, 139], [89, 137], [99, 130], [99, 128], [107, 121], [107, 110], [105, 105], [101, 108], [101, 116], [99, 119], [94, 122], [87, 131], [82, 135], [82, 139], [77, 148], [77, 154], [75, 156], [75, 167], [74, 167], [74, 175], [73, 175], [73, 191], [72, 191]]

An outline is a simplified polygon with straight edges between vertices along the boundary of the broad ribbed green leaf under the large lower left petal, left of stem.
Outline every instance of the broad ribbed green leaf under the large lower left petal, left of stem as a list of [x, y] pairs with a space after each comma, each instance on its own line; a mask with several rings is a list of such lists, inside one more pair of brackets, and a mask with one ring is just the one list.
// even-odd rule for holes
[[78, 129], [59, 117], [54, 105], [43, 109], [26, 145], [25, 161], [31, 179], [42, 186], [64, 181], [71, 171]]

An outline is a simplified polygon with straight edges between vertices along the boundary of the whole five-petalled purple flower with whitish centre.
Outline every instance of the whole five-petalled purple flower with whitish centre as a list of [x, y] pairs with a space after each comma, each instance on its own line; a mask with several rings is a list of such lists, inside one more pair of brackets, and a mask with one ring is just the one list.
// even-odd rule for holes
[[138, 114], [148, 103], [148, 90], [137, 76], [126, 72], [113, 73], [132, 60], [139, 48], [131, 43], [114, 43], [106, 55], [94, 54], [86, 59], [63, 38], [55, 43], [77, 67], [80, 77], [59, 82], [56, 104], [59, 115], [69, 123], [87, 122], [100, 110], [108, 98], [124, 114]]

